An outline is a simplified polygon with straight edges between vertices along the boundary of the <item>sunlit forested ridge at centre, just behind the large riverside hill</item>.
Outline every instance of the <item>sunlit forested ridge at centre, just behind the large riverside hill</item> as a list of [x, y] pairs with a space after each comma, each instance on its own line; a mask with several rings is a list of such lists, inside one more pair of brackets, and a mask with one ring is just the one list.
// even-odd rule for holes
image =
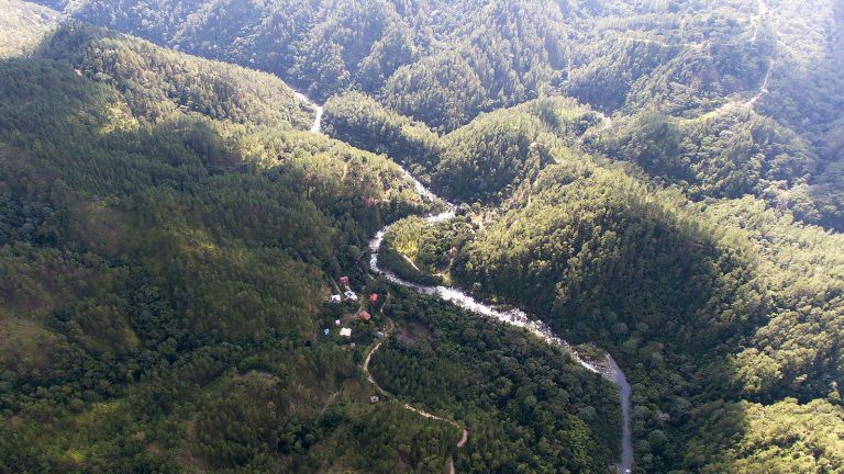
[[564, 98], [538, 99], [486, 113], [440, 137], [422, 123], [391, 112], [359, 93], [325, 104], [325, 132], [415, 171], [437, 192], [465, 202], [501, 201], [534, 179], [600, 116]]

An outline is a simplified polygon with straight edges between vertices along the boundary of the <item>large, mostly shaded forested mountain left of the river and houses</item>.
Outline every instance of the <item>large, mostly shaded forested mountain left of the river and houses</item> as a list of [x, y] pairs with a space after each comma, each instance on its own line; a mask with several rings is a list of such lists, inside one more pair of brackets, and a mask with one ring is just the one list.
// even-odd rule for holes
[[[169, 102], [195, 72], [229, 87]], [[303, 345], [360, 241], [423, 208], [395, 165], [243, 120], [278, 81], [89, 29], [0, 78], [0, 471], [371, 472], [410, 444], [444, 463], [448, 427], [332, 403], [365, 390], [353, 353]]]

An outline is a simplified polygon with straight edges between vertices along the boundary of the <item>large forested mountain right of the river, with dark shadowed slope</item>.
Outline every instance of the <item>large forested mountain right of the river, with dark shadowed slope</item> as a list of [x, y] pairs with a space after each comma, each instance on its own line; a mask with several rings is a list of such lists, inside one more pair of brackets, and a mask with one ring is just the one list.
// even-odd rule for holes
[[[641, 469], [742, 472], [756, 459], [774, 472], [823, 472], [840, 463], [832, 435], [815, 448], [800, 435], [784, 445], [767, 428], [726, 425], [786, 425], [802, 409], [797, 398], [826, 414], [806, 417], [809, 431], [837, 429], [840, 235], [789, 225], [749, 198], [689, 208], [582, 161], [562, 160], [530, 185], [530, 200], [509, 204], [452, 274], [629, 358]], [[799, 241], [807, 250], [795, 252]], [[698, 432], [700, 422], [717, 427]], [[733, 432], [740, 438], [713, 438]], [[722, 443], [730, 450], [717, 454]], [[802, 461], [789, 464], [786, 453]]]

